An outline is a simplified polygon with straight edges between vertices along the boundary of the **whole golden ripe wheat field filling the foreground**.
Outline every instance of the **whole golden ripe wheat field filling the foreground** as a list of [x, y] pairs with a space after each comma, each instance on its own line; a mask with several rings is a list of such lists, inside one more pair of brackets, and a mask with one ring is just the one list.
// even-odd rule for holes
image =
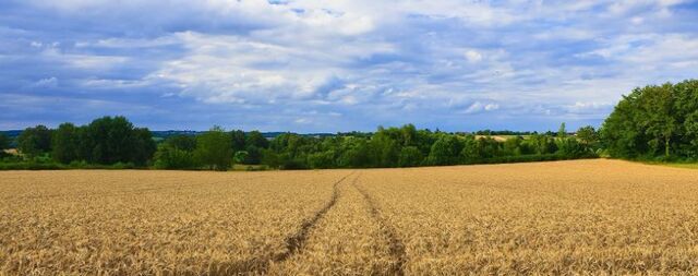
[[698, 274], [698, 170], [0, 172], [0, 275]]

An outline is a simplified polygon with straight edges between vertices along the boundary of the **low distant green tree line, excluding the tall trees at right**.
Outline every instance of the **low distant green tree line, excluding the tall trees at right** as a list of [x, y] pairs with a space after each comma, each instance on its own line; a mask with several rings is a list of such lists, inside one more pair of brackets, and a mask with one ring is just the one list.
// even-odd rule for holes
[[506, 140], [418, 130], [412, 124], [332, 136], [282, 133], [270, 140], [258, 131], [214, 127], [198, 135], [172, 135], [155, 143], [148, 129], [134, 128], [124, 117], [103, 117], [81, 127], [62, 123], [55, 130], [37, 125], [17, 137], [22, 158], [31, 161], [212, 170], [227, 170], [234, 164], [318, 169], [569, 159], [594, 156], [598, 144], [593, 128], [569, 136], [564, 124], [557, 133]]

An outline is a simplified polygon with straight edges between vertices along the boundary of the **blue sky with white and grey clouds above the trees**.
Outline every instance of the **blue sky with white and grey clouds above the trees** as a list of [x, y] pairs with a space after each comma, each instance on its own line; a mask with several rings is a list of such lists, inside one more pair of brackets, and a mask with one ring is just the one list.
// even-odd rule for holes
[[697, 1], [0, 1], [0, 130], [575, 129], [697, 73]]

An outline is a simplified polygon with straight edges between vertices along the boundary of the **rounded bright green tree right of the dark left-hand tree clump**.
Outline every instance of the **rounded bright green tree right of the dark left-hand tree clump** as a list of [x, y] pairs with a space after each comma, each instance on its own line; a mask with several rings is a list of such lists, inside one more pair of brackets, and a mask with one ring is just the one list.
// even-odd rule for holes
[[196, 137], [194, 156], [204, 166], [213, 170], [227, 170], [232, 161], [231, 139], [220, 127]]

